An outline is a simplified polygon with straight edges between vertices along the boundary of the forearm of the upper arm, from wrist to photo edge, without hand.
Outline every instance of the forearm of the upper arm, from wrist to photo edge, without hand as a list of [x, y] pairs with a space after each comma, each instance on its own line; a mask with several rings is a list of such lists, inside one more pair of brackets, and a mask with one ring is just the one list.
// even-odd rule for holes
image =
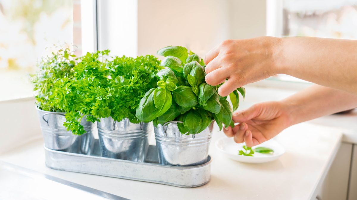
[[357, 41], [281, 38], [273, 58], [276, 73], [357, 94]]

